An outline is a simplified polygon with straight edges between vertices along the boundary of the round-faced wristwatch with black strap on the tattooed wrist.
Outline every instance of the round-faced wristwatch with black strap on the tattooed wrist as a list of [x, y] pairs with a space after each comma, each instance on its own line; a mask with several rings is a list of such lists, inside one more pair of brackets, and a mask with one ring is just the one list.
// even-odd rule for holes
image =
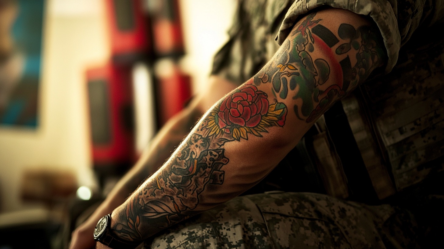
[[140, 245], [141, 242], [126, 241], [117, 237], [111, 231], [111, 214], [107, 214], [100, 218], [94, 229], [94, 240], [106, 245], [112, 249], [133, 249]]

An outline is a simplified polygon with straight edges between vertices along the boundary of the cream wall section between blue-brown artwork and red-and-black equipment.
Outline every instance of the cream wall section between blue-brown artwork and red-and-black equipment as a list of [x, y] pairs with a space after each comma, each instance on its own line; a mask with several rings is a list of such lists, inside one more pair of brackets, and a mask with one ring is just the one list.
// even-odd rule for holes
[[109, 49], [101, 6], [88, 2], [94, 1], [47, 2], [38, 128], [0, 127], [2, 211], [29, 207], [19, 198], [27, 168], [70, 170], [80, 185], [95, 185], [85, 135], [83, 72], [87, 64], [106, 60]]

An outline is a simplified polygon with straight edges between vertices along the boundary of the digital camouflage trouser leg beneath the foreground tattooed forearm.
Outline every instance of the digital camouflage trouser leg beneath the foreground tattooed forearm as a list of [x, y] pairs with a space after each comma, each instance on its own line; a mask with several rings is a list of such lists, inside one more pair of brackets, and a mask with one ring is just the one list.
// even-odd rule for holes
[[234, 198], [179, 223], [145, 248], [419, 248], [411, 213], [315, 193]]

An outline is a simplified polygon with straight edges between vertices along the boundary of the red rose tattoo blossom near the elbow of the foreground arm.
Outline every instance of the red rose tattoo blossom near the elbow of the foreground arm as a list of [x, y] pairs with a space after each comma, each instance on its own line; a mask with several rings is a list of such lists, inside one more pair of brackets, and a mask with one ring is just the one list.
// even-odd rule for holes
[[265, 92], [254, 85], [247, 85], [227, 96], [219, 108], [218, 125], [226, 133], [235, 127], [256, 127], [268, 112], [269, 103]]

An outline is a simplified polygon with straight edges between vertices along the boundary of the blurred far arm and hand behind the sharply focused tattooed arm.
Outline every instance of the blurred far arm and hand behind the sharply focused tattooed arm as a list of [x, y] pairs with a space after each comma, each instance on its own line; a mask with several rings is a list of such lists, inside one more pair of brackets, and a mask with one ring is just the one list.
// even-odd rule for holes
[[198, 93], [184, 110], [163, 126], [136, 165], [117, 183], [91, 217], [75, 229], [70, 248], [93, 247], [95, 241], [92, 234], [97, 221], [122, 204], [148, 176], [162, 166], [202, 114], [234, 87], [235, 85], [227, 80], [211, 76], [208, 88]]

